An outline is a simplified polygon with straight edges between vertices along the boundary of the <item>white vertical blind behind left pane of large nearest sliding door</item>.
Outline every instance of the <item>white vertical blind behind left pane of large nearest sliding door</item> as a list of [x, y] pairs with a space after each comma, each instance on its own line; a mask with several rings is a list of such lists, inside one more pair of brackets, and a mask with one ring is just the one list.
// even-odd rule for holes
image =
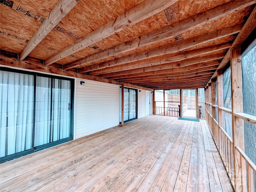
[[32, 147], [33, 75], [0, 71], [1, 156]]

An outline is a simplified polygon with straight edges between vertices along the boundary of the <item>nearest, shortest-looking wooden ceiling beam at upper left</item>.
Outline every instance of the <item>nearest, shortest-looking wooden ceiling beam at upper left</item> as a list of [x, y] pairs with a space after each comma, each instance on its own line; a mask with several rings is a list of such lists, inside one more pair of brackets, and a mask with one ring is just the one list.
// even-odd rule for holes
[[50, 14], [38, 28], [33, 37], [28, 41], [20, 52], [20, 61], [23, 61], [28, 54], [56, 27], [56, 25], [76, 6], [80, 0], [59, 0]]

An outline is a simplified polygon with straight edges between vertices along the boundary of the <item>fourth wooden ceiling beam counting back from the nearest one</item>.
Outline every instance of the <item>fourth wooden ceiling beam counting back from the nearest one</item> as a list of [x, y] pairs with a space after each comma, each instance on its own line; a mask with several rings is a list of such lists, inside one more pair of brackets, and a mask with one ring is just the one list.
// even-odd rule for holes
[[235, 25], [232, 27], [227, 27], [227, 28], [220, 29], [217, 31], [212, 31], [210, 33], [206, 33], [203, 35], [198, 35], [196, 37], [191, 37], [191, 38], [177, 41], [174, 43], [170, 43], [167, 45], [162, 45], [160, 47], [155, 47], [153, 49], [148, 49], [146, 51], [140, 51], [138, 53], [126, 55], [124, 57], [112, 59], [110, 61], [106, 61], [106, 62], [103, 62], [100, 64], [90, 65], [88, 67], [79, 69], [79, 72], [88, 72], [88, 71], [91, 72], [91, 71], [98, 70], [98, 69], [104, 69], [106, 67], [112, 67], [112, 66], [116, 66], [116, 65], [130, 63], [133, 61], [139, 61], [139, 60], [148, 59], [151, 57], [158, 57], [161, 55], [175, 53], [175, 52], [182, 51], [184, 49], [188, 49], [188, 48], [191, 48], [191, 47], [203, 44], [203, 43], [207, 43], [210, 41], [214, 41], [216, 39], [220, 39], [222, 37], [234, 35], [242, 29], [242, 26], [243, 26], [242, 24], [239, 24], [239, 25]]

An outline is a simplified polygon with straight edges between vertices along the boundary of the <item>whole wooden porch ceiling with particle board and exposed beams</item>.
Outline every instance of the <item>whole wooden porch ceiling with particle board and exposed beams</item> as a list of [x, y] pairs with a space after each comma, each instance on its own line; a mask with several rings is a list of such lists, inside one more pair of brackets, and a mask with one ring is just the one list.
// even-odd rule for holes
[[1, 64], [11, 65], [6, 55], [16, 53], [27, 69], [150, 89], [202, 88], [254, 29], [255, 4], [1, 0]]

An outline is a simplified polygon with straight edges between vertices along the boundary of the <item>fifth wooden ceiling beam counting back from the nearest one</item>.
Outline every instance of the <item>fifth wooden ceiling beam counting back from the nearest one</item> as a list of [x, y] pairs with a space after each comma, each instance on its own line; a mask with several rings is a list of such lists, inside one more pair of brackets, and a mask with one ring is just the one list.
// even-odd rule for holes
[[220, 50], [225, 51], [225, 49], [228, 49], [231, 45], [232, 45], [232, 43], [224, 43], [224, 44], [220, 44], [220, 45], [204, 47], [201, 49], [194, 49], [192, 51], [184, 51], [181, 53], [176, 53], [176, 55], [154, 57], [151, 59], [145, 59], [143, 61], [136, 61], [133, 63], [129, 63], [126, 65], [118, 65], [118, 66], [114, 66], [114, 67], [108, 67], [105, 69], [92, 71], [92, 72], [90, 72], [90, 74], [97, 75], [97, 74], [104, 74], [104, 73], [109, 73], [109, 72], [137, 69], [137, 68], [142, 68], [142, 67], [152, 67], [153, 65], [170, 63], [172, 61], [182, 61], [184, 59], [189, 59], [191, 57], [200, 56], [200, 55], [203, 55], [206, 53], [208, 53], [210, 55], [211, 53], [214, 53], [216, 51], [220, 51]]

